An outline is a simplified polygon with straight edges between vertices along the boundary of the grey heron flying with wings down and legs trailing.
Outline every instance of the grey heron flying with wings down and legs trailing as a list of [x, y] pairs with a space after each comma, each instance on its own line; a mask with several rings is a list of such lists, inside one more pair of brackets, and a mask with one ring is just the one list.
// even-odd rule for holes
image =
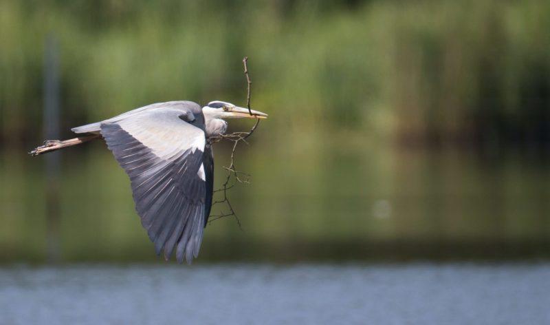
[[155, 103], [100, 122], [74, 127], [77, 138], [46, 140], [32, 156], [103, 138], [130, 178], [135, 210], [155, 252], [190, 264], [199, 255], [212, 207], [212, 138], [225, 134], [225, 118], [267, 114], [225, 101]]

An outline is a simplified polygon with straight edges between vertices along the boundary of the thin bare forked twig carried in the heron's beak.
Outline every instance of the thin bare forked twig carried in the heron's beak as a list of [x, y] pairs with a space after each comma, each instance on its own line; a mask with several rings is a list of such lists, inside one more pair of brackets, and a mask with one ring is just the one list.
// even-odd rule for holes
[[[252, 85], [252, 81], [250, 81], [250, 74], [248, 73], [247, 63], [248, 63], [248, 56], [245, 56], [243, 58], [243, 68], [244, 68], [244, 74], [245, 74], [246, 85], [247, 85], [246, 107], [248, 107], [248, 113], [250, 114], [250, 116], [254, 116], [254, 114], [252, 114], [252, 109], [250, 108], [250, 86]], [[249, 132], [234, 132], [232, 134], [223, 134], [223, 135], [212, 137], [209, 139], [210, 143], [217, 143], [221, 140], [228, 140], [233, 143], [233, 146], [231, 150], [230, 164], [228, 167], [225, 167], [225, 166], [223, 167], [225, 170], [228, 171], [227, 177], [225, 178], [225, 182], [223, 182], [223, 185], [221, 185], [221, 189], [216, 189], [215, 191], [213, 191], [213, 193], [221, 192], [222, 198], [212, 203], [212, 206], [217, 205], [219, 203], [221, 204], [225, 203], [225, 207], [228, 210], [228, 212], [221, 213], [219, 215], [210, 216], [210, 218], [208, 219], [208, 224], [210, 224], [214, 220], [218, 220], [221, 218], [234, 217], [237, 224], [239, 224], [239, 229], [243, 230], [243, 228], [241, 227], [241, 220], [239, 220], [239, 217], [236, 216], [233, 206], [231, 205], [231, 202], [228, 198], [228, 189], [231, 189], [232, 187], [234, 187], [236, 185], [236, 182], [247, 183], [247, 184], [250, 182], [250, 175], [243, 173], [242, 171], [238, 171], [235, 167], [235, 150], [237, 145], [239, 145], [240, 142], [243, 142], [248, 145], [248, 142], [246, 141], [246, 139], [254, 133], [254, 131], [256, 130], [259, 124], [260, 124], [260, 119], [256, 118], [256, 123], [254, 124], [252, 129], [250, 129]]]

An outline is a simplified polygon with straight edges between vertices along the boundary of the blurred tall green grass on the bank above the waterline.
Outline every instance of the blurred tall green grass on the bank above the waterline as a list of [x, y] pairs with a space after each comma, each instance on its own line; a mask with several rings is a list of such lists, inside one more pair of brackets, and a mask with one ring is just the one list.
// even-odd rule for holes
[[1, 140], [41, 138], [52, 34], [65, 129], [157, 101], [242, 103], [248, 55], [275, 136], [547, 144], [549, 30], [542, 0], [2, 0]]

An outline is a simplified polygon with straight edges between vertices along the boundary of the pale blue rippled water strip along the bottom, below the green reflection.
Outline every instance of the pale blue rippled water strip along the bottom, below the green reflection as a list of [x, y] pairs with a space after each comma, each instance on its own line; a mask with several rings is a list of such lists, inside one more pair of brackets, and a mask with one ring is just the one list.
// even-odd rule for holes
[[550, 264], [0, 269], [1, 324], [549, 324]]

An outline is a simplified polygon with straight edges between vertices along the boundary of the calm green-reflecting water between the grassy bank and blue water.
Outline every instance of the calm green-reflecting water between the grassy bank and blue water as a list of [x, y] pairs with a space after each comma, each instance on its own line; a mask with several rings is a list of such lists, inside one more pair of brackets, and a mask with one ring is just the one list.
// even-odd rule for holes
[[[251, 183], [229, 193], [242, 231], [234, 218], [209, 224], [200, 261], [550, 258], [547, 162], [353, 137], [256, 140], [237, 151]], [[215, 187], [227, 145], [216, 147]], [[54, 185], [44, 157], [0, 151], [0, 220], [0, 262], [159, 260], [101, 141], [63, 151]]]

